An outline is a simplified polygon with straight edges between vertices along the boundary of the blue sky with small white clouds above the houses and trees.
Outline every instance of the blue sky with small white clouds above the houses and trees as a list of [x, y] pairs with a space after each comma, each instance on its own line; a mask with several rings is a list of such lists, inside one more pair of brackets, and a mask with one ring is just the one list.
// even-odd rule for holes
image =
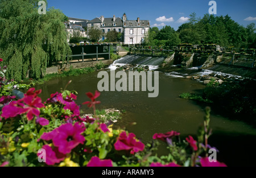
[[[141, 20], [150, 20], [151, 27], [163, 25], [174, 27], [175, 30], [189, 14], [195, 12], [197, 17], [207, 14], [210, 0], [48, 0], [48, 7], [60, 9], [69, 17], [92, 20], [104, 15], [121, 17], [126, 13], [129, 20], [139, 17]], [[247, 26], [256, 23], [255, 0], [216, 0], [217, 15], [229, 15], [233, 20]], [[245, 20], [247, 19], [247, 20]]]

